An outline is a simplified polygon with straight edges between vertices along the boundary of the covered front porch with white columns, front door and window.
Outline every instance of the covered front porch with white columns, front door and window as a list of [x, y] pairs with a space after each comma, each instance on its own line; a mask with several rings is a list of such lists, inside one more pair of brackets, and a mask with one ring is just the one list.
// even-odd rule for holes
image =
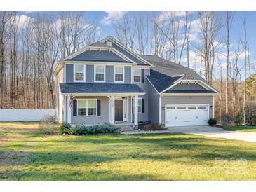
[[[73, 86], [76, 87], [78, 86], [77, 84]], [[116, 86], [115, 84], [110, 85]], [[88, 86], [88, 83], [83, 83], [82, 86]], [[109, 86], [109, 84], [105, 83], [105, 86]], [[85, 92], [82, 90], [83, 92], [72, 93], [64, 93], [65, 89], [61, 86], [65, 100], [65, 122], [72, 125], [103, 123], [137, 125], [138, 98], [139, 95], [144, 95], [144, 92], [133, 84], [119, 84], [118, 86], [122, 88], [121, 92], [120, 89], [117, 89], [119, 92], [100, 92], [99, 89], [98, 92]], [[81, 84], [79, 84], [79, 88], [81, 89]]]

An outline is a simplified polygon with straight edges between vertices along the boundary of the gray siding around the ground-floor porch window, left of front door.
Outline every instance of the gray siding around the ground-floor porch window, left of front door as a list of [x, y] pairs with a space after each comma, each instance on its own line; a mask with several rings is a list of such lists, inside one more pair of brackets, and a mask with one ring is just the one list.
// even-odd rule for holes
[[[81, 98], [81, 97], [80, 97]], [[71, 111], [71, 123], [72, 124], [97, 124], [97, 123], [109, 123], [109, 98], [108, 97], [83, 97], [97, 98], [100, 102], [100, 116], [73, 116]]]

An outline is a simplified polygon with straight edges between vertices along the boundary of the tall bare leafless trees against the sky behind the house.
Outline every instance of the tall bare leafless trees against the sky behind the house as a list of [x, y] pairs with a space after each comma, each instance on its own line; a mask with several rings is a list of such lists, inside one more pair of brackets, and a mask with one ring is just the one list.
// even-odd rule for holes
[[[58, 11], [36, 13], [20, 26], [19, 15], [0, 12], [0, 108], [55, 108], [55, 64], [98, 41], [99, 23], [85, 11]], [[234, 42], [235, 16], [241, 32]], [[234, 11], [129, 11], [112, 25], [116, 39], [136, 53], [196, 69], [220, 91], [220, 121], [225, 114], [241, 116], [243, 123], [246, 113], [255, 115], [255, 64], [245, 17]]]

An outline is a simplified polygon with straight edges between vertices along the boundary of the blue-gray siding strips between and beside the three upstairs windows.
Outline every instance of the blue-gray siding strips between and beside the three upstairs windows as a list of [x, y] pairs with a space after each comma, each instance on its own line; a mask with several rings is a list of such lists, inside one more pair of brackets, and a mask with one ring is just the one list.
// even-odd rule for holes
[[[124, 83], [131, 83], [131, 67], [124, 66]], [[66, 64], [66, 83], [74, 83], [74, 66], [73, 64]], [[83, 82], [79, 82], [83, 83]], [[97, 83], [94, 82], [94, 65], [86, 64], [86, 81], [85, 83]], [[114, 66], [106, 65], [106, 82], [114, 83]]]

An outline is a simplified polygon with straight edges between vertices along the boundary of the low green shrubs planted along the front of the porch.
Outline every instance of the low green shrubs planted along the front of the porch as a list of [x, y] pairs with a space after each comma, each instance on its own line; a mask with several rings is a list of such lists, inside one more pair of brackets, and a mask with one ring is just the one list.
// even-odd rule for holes
[[97, 135], [118, 132], [118, 128], [112, 125], [76, 125], [76, 127], [72, 127], [69, 123], [63, 124], [61, 130], [62, 133], [69, 135]]

